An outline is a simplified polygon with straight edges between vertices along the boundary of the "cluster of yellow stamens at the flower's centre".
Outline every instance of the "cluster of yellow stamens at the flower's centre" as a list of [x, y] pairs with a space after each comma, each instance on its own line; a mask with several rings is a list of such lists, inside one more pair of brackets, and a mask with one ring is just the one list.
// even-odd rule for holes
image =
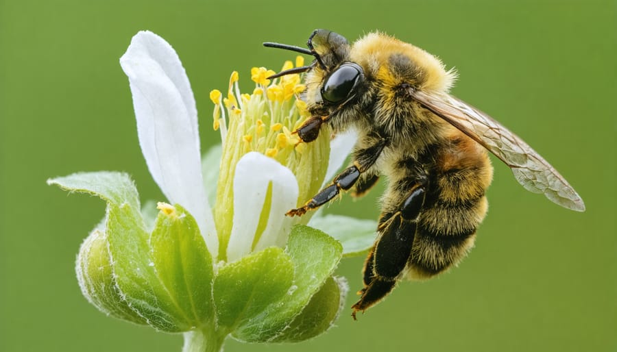
[[[304, 60], [298, 56], [295, 66], [303, 65]], [[282, 66], [282, 70], [289, 68], [293, 68], [291, 61]], [[257, 151], [289, 168], [298, 181], [298, 206], [319, 191], [326, 174], [330, 134], [324, 131], [317, 140], [306, 144], [293, 133], [309, 117], [306, 103], [300, 99], [300, 93], [305, 89], [303, 77], [291, 74], [267, 79], [274, 74], [263, 67], [252, 68], [251, 79], [255, 88], [252, 94], [241, 94], [239, 74], [234, 71], [226, 97], [219, 90], [210, 92], [210, 99], [215, 103], [213, 127], [221, 132], [223, 140], [215, 207], [215, 223], [221, 242], [219, 255], [223, 258], [232, 228], [234, 171], [243, 155]], [[264, 207], [268, 206], [264, 204]], [[261, 209], [256, 212], [260, 214]], [[299, 221], [307, 223], [309, 218], [306, 216]]]

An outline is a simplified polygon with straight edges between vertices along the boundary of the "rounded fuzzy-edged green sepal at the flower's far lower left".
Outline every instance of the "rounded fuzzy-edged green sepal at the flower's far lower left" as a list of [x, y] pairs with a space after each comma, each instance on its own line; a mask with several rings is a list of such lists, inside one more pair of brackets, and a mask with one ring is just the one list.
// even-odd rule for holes
[[147, 325], [146, 320], [123, 299], [110, 260], [107, 236], [104, 230], [95, 229], [82, 243], [75, 263], [77, 281], [84, 297], [105, 314]]

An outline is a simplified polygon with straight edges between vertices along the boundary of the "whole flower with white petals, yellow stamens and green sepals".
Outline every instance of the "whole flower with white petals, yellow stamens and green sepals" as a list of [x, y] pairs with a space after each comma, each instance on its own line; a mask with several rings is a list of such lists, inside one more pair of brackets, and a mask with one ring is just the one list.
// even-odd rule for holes
[[[302, 225], [309, 216], [284, 214], [332, 177], [354, 135], [330, 143], [322, 133], [310, 146], [300, 143], [292, 132], [306, 117], [297, 99], [300, 76], [274, 81], [267, 79], [272, 71], [254, 68], [251, 95], [241, 95], [238, 73], [232, 73], [226, 97], [210, 94], [213, 127], [223, 142], [202, 165], [195, 99], [176, 52], [156, 34], [139, 32], [120, 61], [143, 155], [169, 203], [158, 203], [158, 214], [149, 216], [153, 207], [141, 208], [123, 173], [48, 180], [107, 202], [104, 221], [77, 257], [86, 299], [117, 318], [183, 332], [184, 351], [217, 351], [230, 335], [298, 342], [328, 329], [347, 290], [332, 272], [341, 255], [366, 249], [372, 238], [358, 238], [371, 237], [374, 223], [364, 231], [368, 236], [352, 237], [341, 223], [349, 221], [356, 231], [354, 220], [315, 216], [311, 225], [339, 230], [341, 246]], [[213, 214], [208, 194], [217, 173]]]

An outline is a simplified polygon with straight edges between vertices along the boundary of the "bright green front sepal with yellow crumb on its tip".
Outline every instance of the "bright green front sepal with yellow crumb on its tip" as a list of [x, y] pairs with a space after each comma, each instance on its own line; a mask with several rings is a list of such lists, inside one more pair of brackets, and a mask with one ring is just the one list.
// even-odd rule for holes
[[200, 326], [214, 320], [212, 257], [193, 216], [180, 205], [173, 208], [173, 214], [159, 213], [150, 236], [154, 271], [183, 323]]

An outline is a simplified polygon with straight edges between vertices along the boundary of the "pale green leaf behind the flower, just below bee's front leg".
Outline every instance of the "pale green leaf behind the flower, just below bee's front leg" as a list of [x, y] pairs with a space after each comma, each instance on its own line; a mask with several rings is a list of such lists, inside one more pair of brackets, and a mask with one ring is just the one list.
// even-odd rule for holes
[[377, 222], [350, 216], [313, 216], [309, 226], [320, 229], [343, 244], [343, 257], [363, 255], [373, 247]]

